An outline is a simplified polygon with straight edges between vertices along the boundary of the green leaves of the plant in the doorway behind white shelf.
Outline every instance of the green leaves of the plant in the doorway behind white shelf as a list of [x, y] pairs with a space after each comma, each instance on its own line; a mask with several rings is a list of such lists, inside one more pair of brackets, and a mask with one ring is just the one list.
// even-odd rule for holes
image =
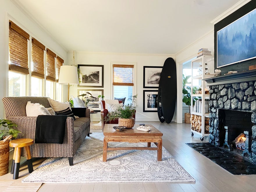
[[[189, 78], [191, 77], [191, 75], [188, 75], [188, 76], [185, 77], [184, 74], [182, 74], [182, 77], [183, 77], [183, 80], [182, 80], [182, 85], [183, 85], [183, 89], [182, 89], [183, 99], [182, 99], [182, 102], [189, 106], [189, 113], [190, 113], [191, 95], [188, 92], [188, 90], [191, 90], [191, 87], [187, 86], [186, 84], [191, 83], [191, 82], [189, 82]], [[196, 100], [198, 100], [198, 99], [193, 97], [193, 105], [195, 104]]]

